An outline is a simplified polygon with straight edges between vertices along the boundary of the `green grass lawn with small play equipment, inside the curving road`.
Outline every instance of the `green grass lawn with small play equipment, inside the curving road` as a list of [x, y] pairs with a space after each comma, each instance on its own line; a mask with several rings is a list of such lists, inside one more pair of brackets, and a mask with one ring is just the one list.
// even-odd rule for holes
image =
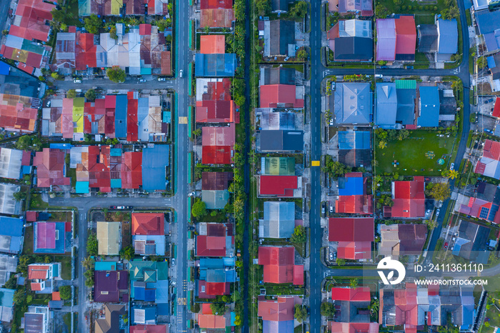
[[[434, 131], [417, 129], [411, 131], [404, 141], [389, 141], [384, 149], [375, 148], [375, 158], [379, 161], [379, 174], [384, 172], [398, 172], [402, 176], [439, 176], [441, 169], [446, 167], [449, 154], [453, 146], [454, 137], [439, 137]], [[434, 158], [426, 157], [428, 151], [434, 152]], [[437, 164], [438, 159], [444, 156], [445, 164]], [[392, 164], [399, 162], [397, 167]]]

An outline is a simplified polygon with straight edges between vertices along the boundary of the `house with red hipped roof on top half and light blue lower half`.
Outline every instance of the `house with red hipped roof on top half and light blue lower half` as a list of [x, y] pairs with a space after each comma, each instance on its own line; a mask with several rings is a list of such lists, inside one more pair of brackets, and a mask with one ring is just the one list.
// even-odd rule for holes
[[136, 254], [165, 255], [165, 215], [132, 213], [132, 242]]

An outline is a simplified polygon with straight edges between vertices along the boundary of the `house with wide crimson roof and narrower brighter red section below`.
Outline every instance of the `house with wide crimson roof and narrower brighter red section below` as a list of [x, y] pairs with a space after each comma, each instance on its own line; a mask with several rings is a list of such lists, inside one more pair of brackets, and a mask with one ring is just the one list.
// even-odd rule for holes
[[342, 259], [371, 259], [374, 241], [373, 217], [330, 217], [329, 242], [338, 242], [337, 257]]

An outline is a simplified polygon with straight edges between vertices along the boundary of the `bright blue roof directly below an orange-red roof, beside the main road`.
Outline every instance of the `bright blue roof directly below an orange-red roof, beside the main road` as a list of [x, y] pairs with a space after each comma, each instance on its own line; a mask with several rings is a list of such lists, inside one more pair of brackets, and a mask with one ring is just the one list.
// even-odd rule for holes
[[194, 58], [195, 76], [234, 76], [236, 54], [196, 54]]

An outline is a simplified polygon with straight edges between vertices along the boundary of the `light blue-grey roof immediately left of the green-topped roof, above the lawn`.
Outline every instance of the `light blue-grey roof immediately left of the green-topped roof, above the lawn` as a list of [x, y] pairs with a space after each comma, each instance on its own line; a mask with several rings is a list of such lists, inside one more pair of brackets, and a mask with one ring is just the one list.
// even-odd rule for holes
[[396, 124], [397, 109], [396, 84], [394, 82], [377, 83], [375, 124], [382, 127]]

